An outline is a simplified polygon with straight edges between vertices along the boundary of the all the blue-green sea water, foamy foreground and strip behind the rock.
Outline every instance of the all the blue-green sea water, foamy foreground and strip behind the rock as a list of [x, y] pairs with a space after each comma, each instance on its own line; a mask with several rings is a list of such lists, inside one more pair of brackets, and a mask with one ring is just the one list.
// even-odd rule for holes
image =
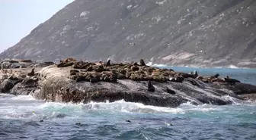
[[[207, 76], [219, 73], [256, 85], [252, 69], [168, 68]], [[255, 140], [256, 103], [234, 99], [225, 106], [186, 103], [170, 108], [125, 101], [63, 104], [0, 94], [0, 139]]]

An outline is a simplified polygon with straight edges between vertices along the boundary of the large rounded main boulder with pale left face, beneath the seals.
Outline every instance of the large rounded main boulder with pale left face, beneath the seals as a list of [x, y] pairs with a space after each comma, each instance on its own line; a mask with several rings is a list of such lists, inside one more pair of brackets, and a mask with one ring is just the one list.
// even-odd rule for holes
[[[236, 84], [231, 85], [224, 79], [213, 84], [210, 77], [203, 77], [204, 81], [197, 79], [194, 74], [136, 65], [138, 67], [136, 70], [143, 69], [145, 72], [148, 72], [147, 75], [142, 74], [138, 76], [140, 79], [131, 79], [130, 76], [123, 76], [123, 78], [117, 78], [117, 81], [112, 82], [111, 80], [105, 81], [101, 79], [101, 76], [98, 76], [98, 74], [101, 75], [101, 73], [107, 72], [105, 70], [112, 72], [111, 74], [113, 72], [119, 73], [119, 71], [121, 73], [124, 66], [130, 66], [128, 72], [129, 70], [133, 72], [131, 67], [134, 67], [134, 64], [110, 64], [109, 66], [101, 64], [100, 66], [103, 68], [100, 70], [96, 66], [99, 65], [82, 61], [67, 61], [56, 66], [45, 67], [40, 71], [40, 92], [35, 94], [34, 97], [48, 101], [82, 101], [84, 103], [88, 103], [88, 101], [117, 101], [124, 99], [125, 101], [168, 107], [177, 107], [179, 104], [187, 101], [193, 104], [232, 104], [231, 100], [222, 98], [225, 95], [242, 99], [232, 92], [239, 89], [239, 86], [236, 87]], [[88, 70], [88, 67], [91, 68]], [[84, 72], [81, 72], [81, 70]], [[85, 78], [84, 80], [70, 78], [72, 76], [81, 76], [82, 73], [94, 74], [91, 74], [90, 78]], [[155, 76], [155, 79], [145, 79], [147, 76], [148, 78]], [[170, 77], [175, 77], [176, 79], [183, 77], [183, 80], [171, 81]], [[98, 81], [91, 82], [90, 79], [92, 78], [97, 78]], [[154, 91], [149, 90], [147, 80], [151, 81]], [[227, 92], [221, 86], [232, 86], [233, 89], [229, 89], [230, 92]], [[255, 86], [251, 86], [250, 89], [253, 89], [253, 87]], [[250, 89], [243, 92], [249, 93]]]

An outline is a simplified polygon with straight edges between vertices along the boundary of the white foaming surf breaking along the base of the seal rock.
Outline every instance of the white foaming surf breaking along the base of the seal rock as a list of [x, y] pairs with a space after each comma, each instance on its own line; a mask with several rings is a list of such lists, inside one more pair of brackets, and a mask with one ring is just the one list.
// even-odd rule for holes
[[126, 102], [124, 100], [114, 102], [94, 102], [88, 104], [72, 104], [37, 101], [30, 95], [3, 95], [0, 98], [0, 119], [18, 120], [54, 120], [54, 119], [75, 119], [85, 114], [198, 114], [206, 112], [221, 112], [226, 107], [255, 105], [250, 102], [239, 101], [230, 96], [223, 96], [233, 105], [216, 106], [212, 104], [194, 105], [190, 102], [181, 104], [179, 107], [156, 107], [141, 103]]

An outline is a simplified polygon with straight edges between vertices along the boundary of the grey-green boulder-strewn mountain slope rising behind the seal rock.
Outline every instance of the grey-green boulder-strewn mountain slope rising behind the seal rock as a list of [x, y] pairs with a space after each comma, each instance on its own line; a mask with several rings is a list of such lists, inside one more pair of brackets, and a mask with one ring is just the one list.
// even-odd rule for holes
[[0, 54], [68, 57], [256, 67], [256, 1], [76, 0]]

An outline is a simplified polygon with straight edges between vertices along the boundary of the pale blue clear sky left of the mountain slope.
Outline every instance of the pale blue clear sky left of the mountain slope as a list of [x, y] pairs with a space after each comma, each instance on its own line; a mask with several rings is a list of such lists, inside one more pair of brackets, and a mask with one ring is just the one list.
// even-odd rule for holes
[[0, 52], [74, 0], [0, 0]]

